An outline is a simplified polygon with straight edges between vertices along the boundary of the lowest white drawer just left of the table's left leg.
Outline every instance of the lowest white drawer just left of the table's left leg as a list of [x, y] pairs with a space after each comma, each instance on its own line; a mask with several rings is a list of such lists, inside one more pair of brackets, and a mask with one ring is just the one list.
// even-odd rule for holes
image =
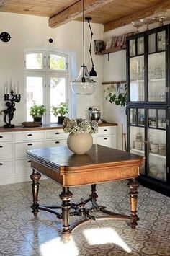
[[14, 164], [14, 175], [31, 175], [32, 169], [30, 167], [30, 160], [17, 160]]

